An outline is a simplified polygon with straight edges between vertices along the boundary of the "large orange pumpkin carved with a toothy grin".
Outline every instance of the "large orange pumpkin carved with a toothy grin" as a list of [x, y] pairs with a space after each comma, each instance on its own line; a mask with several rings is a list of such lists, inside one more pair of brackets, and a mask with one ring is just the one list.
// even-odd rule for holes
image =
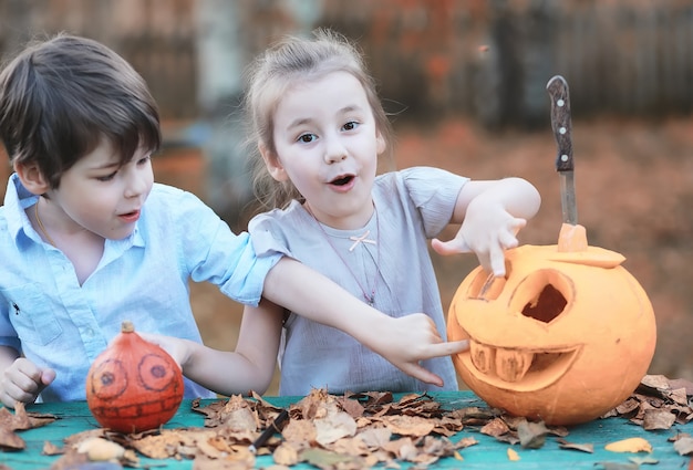
[[479, 267], [455, 293], [448, 337], [470, 344], [455, 368], [488, 405], [575, 425], [620, 405], [647, 374], [652, 305], [624, 258], [589, 247], [581, 229], [508, 250], [504, 278]]

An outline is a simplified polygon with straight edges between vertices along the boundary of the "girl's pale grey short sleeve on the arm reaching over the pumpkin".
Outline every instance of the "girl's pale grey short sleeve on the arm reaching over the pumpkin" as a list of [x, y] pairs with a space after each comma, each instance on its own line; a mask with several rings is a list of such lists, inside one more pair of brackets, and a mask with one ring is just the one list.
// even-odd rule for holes
[[457, 196], [469, 178], [434, 167], [412, 167], [399, 174], [421, 212], [426, 237], [437, 237], [449, 223]]

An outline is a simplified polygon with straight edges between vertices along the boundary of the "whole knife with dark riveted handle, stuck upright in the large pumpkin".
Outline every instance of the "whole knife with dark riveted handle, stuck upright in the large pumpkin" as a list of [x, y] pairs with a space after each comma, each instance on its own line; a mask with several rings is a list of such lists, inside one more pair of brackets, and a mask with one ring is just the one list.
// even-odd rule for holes
[[546, 90], [551, 98], [551, 129], [558, 146], [556, 171], [560, 176], [560, 202], [563, 223], [578, 224], [575, 191], [575, 161], [572, 158], [572, 123], [568, 82], [560, 75], [549, 80]]

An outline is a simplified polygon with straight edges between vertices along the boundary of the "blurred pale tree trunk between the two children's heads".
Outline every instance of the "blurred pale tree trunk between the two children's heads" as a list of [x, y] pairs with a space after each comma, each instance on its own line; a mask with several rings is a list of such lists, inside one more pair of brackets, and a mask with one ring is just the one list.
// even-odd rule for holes
[[[244, 147], [244, 67], [278, 35], [306, 33], [320, 18], [322, 0], [196, 2], [198, 101], [209, 130], [208, 203], [236, 230], [245, 229], [254, 200], [251, 165]], [[268, 28], [268, 17], [279, 19]]]

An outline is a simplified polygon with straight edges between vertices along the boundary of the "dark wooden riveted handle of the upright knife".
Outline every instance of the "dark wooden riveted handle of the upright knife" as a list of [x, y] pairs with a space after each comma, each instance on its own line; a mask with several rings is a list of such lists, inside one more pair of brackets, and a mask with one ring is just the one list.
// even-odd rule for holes
[[571, 171], [572, 161], [572, 125], [570, 122], [570, 95], [568, 82], [560, 75], [554, 76], [546, 85], [551, 97], [551, 128], [558, 144], [556, 171]]

